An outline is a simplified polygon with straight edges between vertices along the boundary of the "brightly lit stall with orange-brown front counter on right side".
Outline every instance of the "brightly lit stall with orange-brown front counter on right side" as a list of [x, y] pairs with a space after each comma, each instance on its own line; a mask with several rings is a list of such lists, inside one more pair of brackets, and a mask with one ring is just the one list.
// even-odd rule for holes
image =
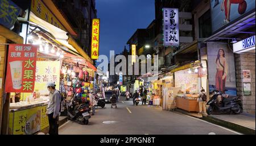
[[200, 66], [200, 62], [188, 64], [185, 69], [174, 73], [175, 87], [179, 87], [176, 95], [176, 107], [189, 112], [199, 112], [199, 97], [200, 87], [206, 86], [204, 76], [206, 72]]

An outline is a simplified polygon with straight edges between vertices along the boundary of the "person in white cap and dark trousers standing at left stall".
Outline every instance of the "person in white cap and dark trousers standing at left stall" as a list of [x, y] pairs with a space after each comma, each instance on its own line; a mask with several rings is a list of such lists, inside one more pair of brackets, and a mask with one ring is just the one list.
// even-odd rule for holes
[[47, 107], [47, 115], [49, 119], [49, 135], [58, 135], [59, 128], [59, 112], [61, 95], [59, 91], [55, 89], [54, 82], [47, 83], [47, 89], [49, 91], [49, 103]]

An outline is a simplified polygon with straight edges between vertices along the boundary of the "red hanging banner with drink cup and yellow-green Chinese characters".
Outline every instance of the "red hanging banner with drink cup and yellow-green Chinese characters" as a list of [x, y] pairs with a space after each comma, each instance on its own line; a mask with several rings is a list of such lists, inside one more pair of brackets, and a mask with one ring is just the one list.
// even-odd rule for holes
[[36, 52], [35, 45], [9, 45], [6, 92], [32, 93], [34, 91]]

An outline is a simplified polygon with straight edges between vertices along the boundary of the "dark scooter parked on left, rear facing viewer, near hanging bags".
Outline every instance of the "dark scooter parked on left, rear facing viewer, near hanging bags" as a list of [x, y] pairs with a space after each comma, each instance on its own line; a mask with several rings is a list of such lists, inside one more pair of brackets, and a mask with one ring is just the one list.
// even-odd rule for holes
[[72, 98], [68, 103], [68, 119], [74, 120], [79, 124], [88, 124], [90, 119], [90, 104], [89, 102], [81, 103], [75, 102], [75, 98]]

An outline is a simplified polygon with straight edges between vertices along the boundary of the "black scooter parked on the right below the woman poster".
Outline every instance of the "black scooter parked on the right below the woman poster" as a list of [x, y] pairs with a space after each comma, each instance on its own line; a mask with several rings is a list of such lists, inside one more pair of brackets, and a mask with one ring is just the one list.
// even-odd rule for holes
[[[234, 114], [240, 114], [242, 112], [242, 103], [241, 103], [240, 97], [234, 96], [234, 97], [223, 98], [222, 93], [220, 93], [217, 90], [210, 92], [210, 94], [213, 94], [213, 93], [214, 93], [213, 97], [210, 98], [210, 100], [207, 102], [207, 105], [209, 105], [207, 109], [208, 115], [212, 114], [214, 109], [216, 109], [221, 113], [222, 112], [231, 113], [233, 111]], [[217, 104], [217, 98], [219, 95], [223, 99], [220, 105]]]

